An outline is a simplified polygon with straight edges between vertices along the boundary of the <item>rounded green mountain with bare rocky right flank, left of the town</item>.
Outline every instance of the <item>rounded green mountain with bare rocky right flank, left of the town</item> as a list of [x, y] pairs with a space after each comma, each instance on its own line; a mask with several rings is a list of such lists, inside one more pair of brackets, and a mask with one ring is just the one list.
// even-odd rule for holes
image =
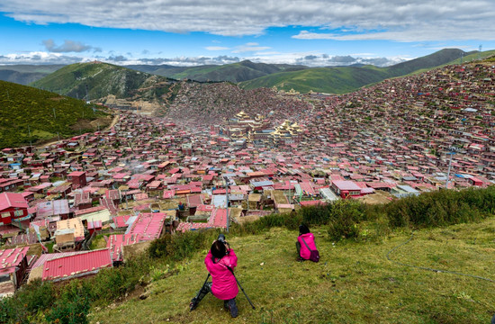
[[108, 63], [91, 62], [62, 67], [31, 85], [86, 100], [100, 99], [112, 94], [116, 98], [159, 101], [173, 84], [173, 80], [163, 76], [154, 76]]

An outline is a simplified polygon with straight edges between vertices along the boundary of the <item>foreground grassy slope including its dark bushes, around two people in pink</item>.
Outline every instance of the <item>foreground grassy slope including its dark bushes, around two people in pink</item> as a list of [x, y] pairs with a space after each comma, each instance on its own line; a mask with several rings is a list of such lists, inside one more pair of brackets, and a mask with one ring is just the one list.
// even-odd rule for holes
[[[238, 320], [486, 323], [495, 312], [494, 198], [495, 186], [443, 190], [234, 223], [227, 239], [239, 257], [238, 280], [257, 305], [251, 311], [239, 294]], [[296, 262], [302, 222], [316, 235], [319, 264]], [[166, 234], [93, 277], [27, 284], [0, 300], [0, 322], [87, 323], [87, 316], [94, 323], [223, 322], [229, 315], [211, 296], [188, 311], [206, 275], [202, 259], [219, 233]]]

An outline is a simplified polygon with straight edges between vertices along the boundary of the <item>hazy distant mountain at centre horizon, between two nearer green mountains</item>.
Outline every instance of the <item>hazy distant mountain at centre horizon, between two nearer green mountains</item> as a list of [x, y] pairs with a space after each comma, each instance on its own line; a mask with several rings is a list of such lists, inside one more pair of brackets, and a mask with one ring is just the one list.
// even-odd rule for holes
[[178, 80], [190, 79], [194, 81], [229, 81], [242, 82], [261, 76], [267, 76], [282, 71], [302, 70], [308, 67], [287, 64], [254, 63], [249, 60], [226, 65], [206, 65], [200, 67], [173, 67], [173, 66], [127, 66], [143, 72], [166, 76]]

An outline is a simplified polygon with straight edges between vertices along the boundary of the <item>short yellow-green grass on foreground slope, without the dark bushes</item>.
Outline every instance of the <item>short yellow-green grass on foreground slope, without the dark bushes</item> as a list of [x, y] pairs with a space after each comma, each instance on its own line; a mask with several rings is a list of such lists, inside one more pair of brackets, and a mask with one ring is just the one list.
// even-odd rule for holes
[[[394, 231], [381, 242], [345, 240], [335, 245], [326, 227], [314, 228], [320, 263], [298, 263], [295, 231], [229, 237], [238, 255], [239, 317], [247, 323], [488, 323], [495, 312], [493, 283], [398, 266], [386, 254], [408, 238]], [[392, 259], [495, 279], [495, 220], [422, 229]], [[93, 308], [93, 323], [222, 323], [229, 314], [211, 295], [190, 312], [188, 303], [206, 276], [206, 250], [178, 264], [178, 274], [157, 279], [126, 302]], [[262, 266], [263, 264], [263, 266]], [[154, 271], [166, 271], [157, 263]]]

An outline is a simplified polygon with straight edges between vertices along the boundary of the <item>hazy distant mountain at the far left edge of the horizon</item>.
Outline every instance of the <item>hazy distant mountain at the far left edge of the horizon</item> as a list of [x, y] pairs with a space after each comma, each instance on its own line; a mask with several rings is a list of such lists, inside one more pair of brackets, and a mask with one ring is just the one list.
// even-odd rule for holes
[[0, 80], [29, 85], [64, 67], [63, 65], [8, 65], [0, 66]]

